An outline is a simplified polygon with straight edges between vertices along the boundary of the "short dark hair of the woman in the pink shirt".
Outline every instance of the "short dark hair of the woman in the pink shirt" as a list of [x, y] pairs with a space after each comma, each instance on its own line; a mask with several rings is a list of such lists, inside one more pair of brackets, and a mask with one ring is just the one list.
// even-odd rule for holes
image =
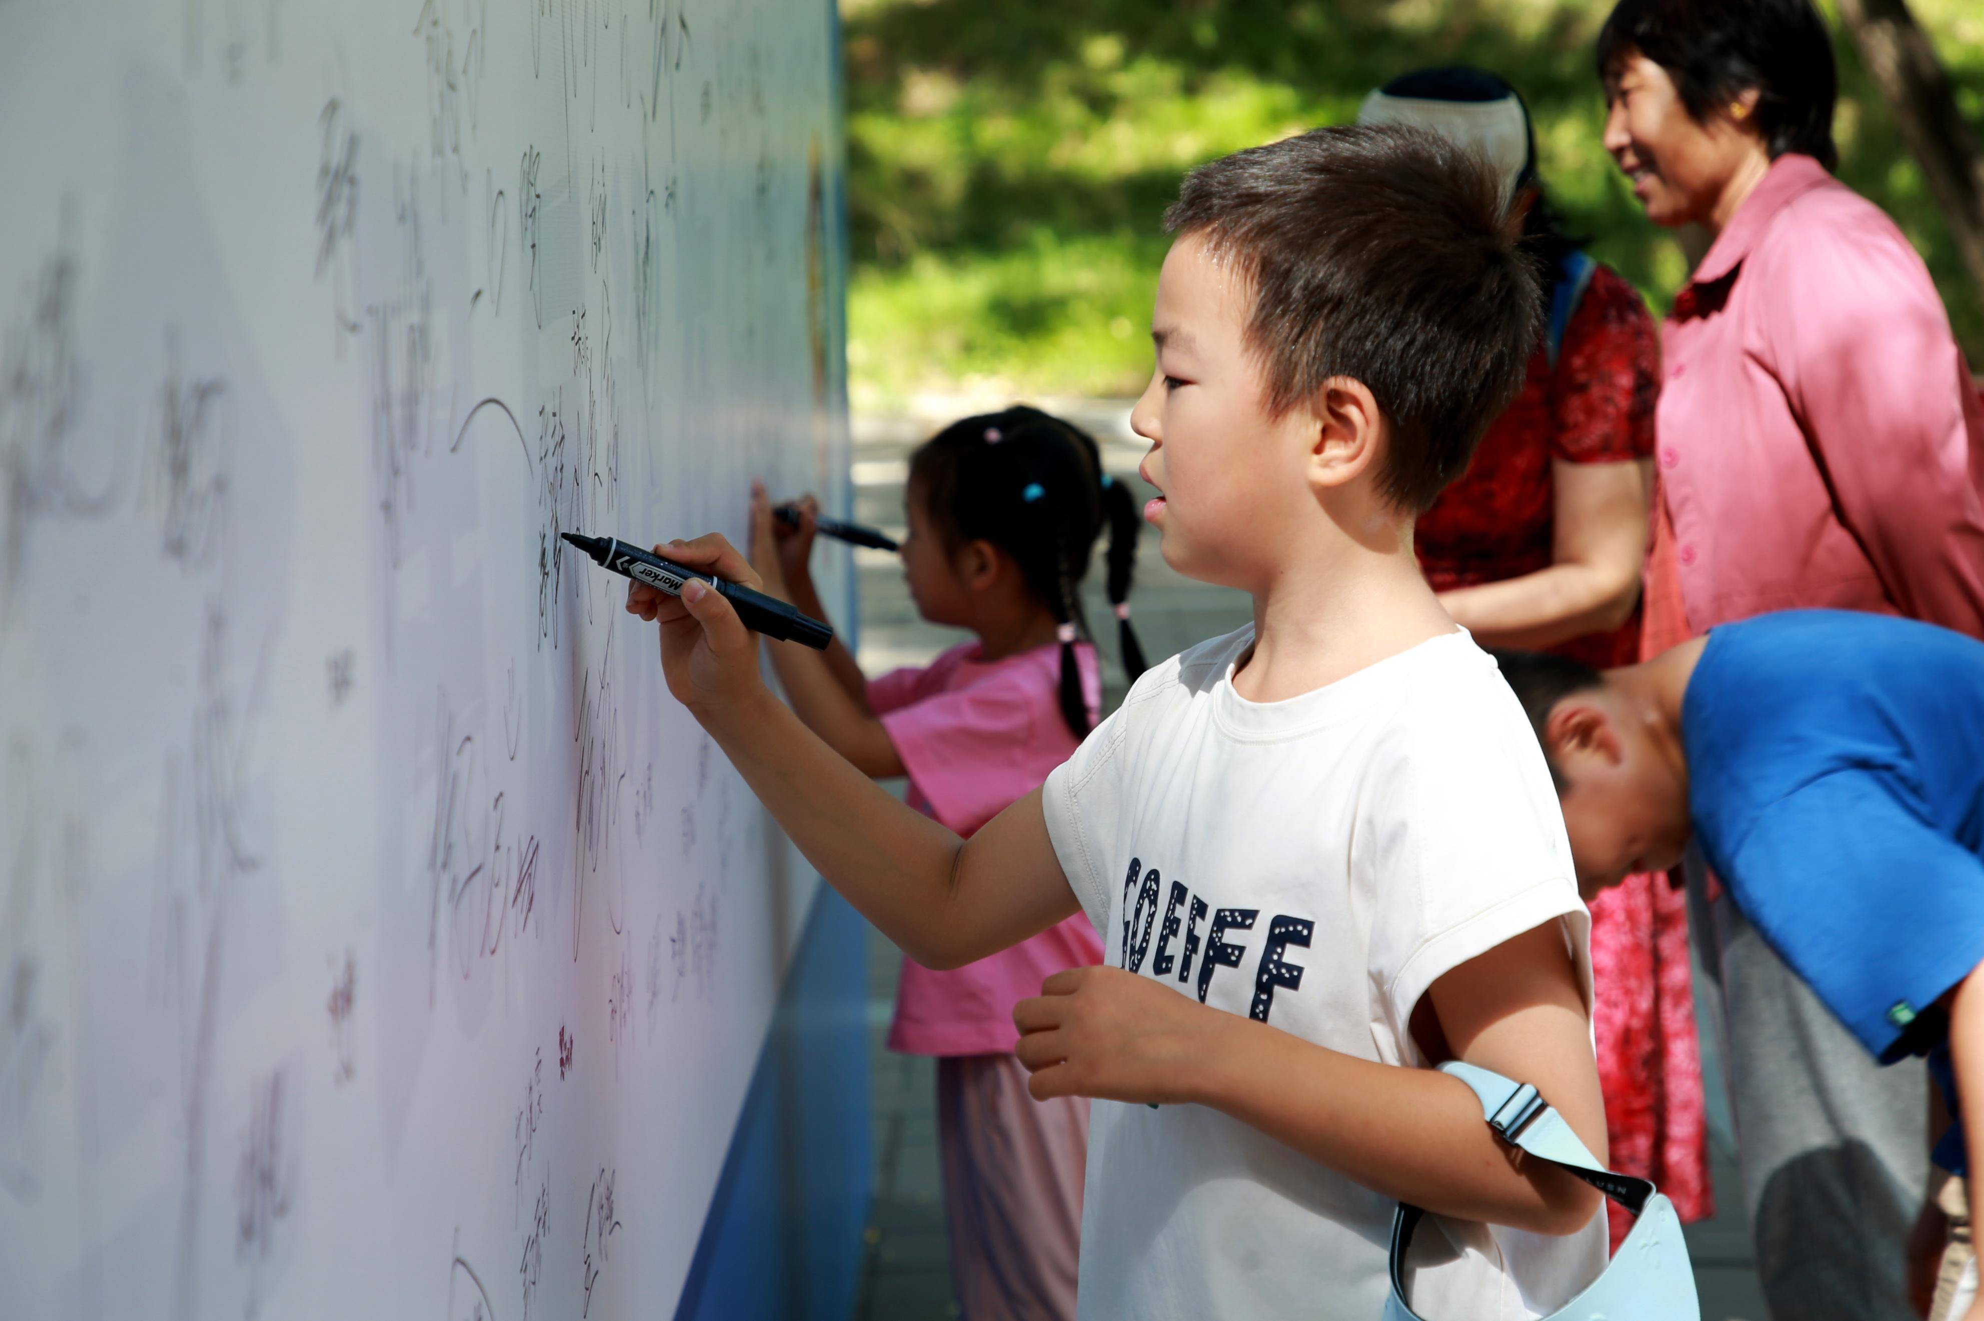
[[1694, 123], [1756, 89], [1756, 127], [1774, 161], [1798, 151], [1839, 165], [1839, 67], [1811, 0], [1619, 0], [1599, 30], [1599, 79], [1617, 81], [1635, 52], [1667, 69]]

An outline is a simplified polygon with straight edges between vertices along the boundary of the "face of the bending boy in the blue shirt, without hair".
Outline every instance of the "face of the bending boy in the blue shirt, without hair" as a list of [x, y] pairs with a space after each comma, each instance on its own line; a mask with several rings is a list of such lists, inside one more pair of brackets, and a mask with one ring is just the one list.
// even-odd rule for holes
[[1585, 899], [1643, 871], [1680, 865], [1688, 785], [1623, 702], [1607, 692], [1563, 698], [1550, 714], [1551, 760]]

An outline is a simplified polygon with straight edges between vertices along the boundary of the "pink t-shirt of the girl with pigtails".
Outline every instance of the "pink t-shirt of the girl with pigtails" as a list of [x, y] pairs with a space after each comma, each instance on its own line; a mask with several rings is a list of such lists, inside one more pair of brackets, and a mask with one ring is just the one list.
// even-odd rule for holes
[[[1075, 647], [1081, 696], [1101, 708], [1095, 649]], [[927, 668], [901, 668], [867, 686], [889, 742], [909, 772], [909, 805], [970, 837], [1046, 781], [1075, 752], [1061, 720], [1061, 649], [1036, 647], [978, 660], [978, 643], [952, 647]], [[889, 1049], [907, 1055], [1002, 1055], [1020, 1041], [1012, 1006], [1040, 994], [1063, 968], [1099, 964], [1101, 940], [1083, 914], [976, 964], [934, 972], [903, 960]]]

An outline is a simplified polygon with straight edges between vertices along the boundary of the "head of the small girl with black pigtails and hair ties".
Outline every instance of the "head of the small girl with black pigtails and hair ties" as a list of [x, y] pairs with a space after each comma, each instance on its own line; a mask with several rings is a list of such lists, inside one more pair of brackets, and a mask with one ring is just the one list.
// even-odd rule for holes
[[1103, 472], [1095, 440], [1040, 409], [968, 417], [911, 456], [907, 506], [903, 575], [917, 611], [974, 631], [1010, 623], [994, 619], [1002, 613], [1052, 615], [1061, 641], [1061, 716], [1077, 738], [1087, 734], [1075, 639], [1087, 633], [1079, 589], [1103, 524], [1123, 668], [1131, 682], [1145, 668], [1129, 625], [1143, 524], [1129, 490]]

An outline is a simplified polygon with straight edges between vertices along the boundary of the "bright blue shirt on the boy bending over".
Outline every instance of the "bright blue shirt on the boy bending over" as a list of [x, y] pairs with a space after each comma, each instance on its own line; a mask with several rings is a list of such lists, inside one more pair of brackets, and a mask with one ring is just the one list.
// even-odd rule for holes
[[1680, 734], [1736, 906], [1881, 1063], [1946, 1077], [1940, 1014], [1915, 1020], [1984, 962], [1984, 643], [1847, 611], [1722, 625]]

